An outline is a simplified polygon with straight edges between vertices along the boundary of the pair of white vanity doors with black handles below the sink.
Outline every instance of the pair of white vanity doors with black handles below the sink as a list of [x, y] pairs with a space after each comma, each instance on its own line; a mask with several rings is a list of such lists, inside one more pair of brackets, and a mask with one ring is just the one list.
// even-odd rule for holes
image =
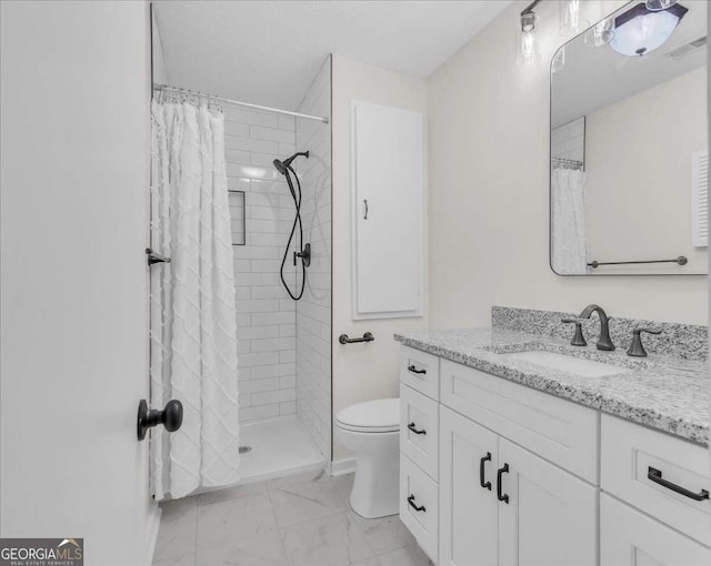
[[440, 564], [597, 564], [594, 486], [445, 407], [440, 429]]

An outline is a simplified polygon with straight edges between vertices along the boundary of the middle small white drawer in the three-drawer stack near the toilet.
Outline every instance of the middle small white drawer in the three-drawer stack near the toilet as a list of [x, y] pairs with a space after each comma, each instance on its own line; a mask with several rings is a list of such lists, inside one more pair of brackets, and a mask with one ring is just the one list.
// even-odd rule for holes
[[437, 481], [438, 448], [439, 403], [400, 385], [400, 449]]

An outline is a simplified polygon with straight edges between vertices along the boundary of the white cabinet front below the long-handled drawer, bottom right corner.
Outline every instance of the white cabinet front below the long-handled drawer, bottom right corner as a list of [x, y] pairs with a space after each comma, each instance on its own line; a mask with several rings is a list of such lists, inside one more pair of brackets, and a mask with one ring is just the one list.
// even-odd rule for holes
[[613, 497], [600, 496], [601, 566], [709, 566], [711, 550]]

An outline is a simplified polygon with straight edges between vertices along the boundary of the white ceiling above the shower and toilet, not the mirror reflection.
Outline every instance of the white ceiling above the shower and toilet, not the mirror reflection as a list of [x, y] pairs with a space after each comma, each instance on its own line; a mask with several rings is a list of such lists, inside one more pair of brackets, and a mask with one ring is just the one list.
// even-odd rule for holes
[[329, 53], [425, 78], [510, 1], [157, 0], [170, 83], [296, 110]]

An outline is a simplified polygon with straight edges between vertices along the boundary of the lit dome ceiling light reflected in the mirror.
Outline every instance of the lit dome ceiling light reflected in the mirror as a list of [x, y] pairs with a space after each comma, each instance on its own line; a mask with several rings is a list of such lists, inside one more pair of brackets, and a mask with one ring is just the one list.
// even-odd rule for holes
[[664, 10], [650, 10], [639, 3], [615, 18], [610, 47], [623, 55], [645, 55], [667, 42], [688, 11], [680, 3]]

